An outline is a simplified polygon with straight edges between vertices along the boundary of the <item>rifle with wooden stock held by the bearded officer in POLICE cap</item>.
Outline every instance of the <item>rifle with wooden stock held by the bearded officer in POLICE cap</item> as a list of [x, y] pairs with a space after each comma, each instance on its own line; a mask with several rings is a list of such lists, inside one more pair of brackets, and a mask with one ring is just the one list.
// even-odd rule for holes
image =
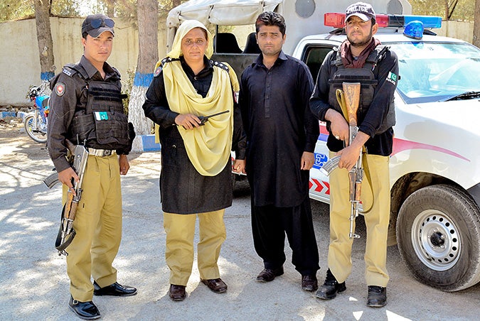
[[[357, 126], [357, 110], [358, 104], [360, 102], [360, 82], [343, 82], [341, 89], [336, 89], [336, 97], [338, 103], [341, 106], [343, 111], [343, 116], [345, 116], [348, 121], [348, 126], [350, 129], [350, 134], [348, 137], [349, 146], [355, 137], [358, 134]], [[335, 156], [331, 158], [321, 167], [321, 172], [325, 175], [330, 175], [330, 173], [338, 168], [338, 162], [340, 161], [341, 156]], [[358, 207], [360, 205], [361, 197], [361, 186], [363, 180], [363, 165], [362, 165], [362, 151], [358, 156], [358, 160], [353, 168], [348, 172], [348, 192], [349, 199], [351, 203], [350, 210], [350, 232], [348, 237], [350, 239], [358, 239], [360, 236], [355, 234], [353, 229], [353, 223], [355, 222], [356, 217], [358, 217]]]

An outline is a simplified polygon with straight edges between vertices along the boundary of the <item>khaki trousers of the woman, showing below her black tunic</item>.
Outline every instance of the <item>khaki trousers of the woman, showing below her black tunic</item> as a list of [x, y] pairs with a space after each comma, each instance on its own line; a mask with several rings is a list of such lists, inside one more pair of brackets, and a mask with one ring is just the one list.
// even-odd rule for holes
[[197, 264], [200, 278], [220, 278], [218, 256], [227, 237], [223, 214], [225, 210], [198, 214], [173, 214], [164, 212], [166, 232], [166, 264], [170, 268], [170, 284], [185, 285], [193, 266], [193, 236], [198, 216], [199, 241]]

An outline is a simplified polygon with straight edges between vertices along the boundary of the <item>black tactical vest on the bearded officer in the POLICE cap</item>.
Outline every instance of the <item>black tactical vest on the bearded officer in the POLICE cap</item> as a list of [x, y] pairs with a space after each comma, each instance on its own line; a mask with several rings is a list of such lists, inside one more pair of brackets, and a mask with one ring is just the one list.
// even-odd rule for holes
[[[341, 107], [336, 100], [336, 89], [342, 89], [343, 82], [360, 82], [360, 103], [358, 104], [357, 111], [357, 120], [358, 124], [361, 124], [363, 119], [365, 119], [368, 107], [373, 101], [373, 94], [375, 94], [375, 87], [378, 85], [378, 72], [376, 72], [375, 67], [377, 63], [385, 56], [389, 48], [383, 45], [378, 45], [365, 62], [362, 68], [346, 68], [343, 66], [341, 61], [341, 56], [336, 51], [336, 58], [332, 60], [331, 65], [336, 67], [336, 72], [329, 79], [329, 104], [334, 107], [336, 111], [340, 114], [343, 114]], [[380, 128], [375, 131], [375, 135], [382, 134], [387, 129], [395, 125], [395, 106], [394, 102], [390, 102], [388, 106], [388, 111], [385, 113], [384, 119]]]

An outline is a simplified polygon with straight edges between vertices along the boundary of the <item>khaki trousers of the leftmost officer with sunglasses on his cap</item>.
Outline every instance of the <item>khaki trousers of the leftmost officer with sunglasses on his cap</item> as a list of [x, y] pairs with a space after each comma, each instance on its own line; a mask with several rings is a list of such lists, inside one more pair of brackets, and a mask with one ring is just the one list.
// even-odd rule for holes
[[[73, 229], [77, 234], [67, 247], [70, 293], [80, 302], [91, 301], [93, 284], [100, 287], [117, 281], [112, 262], [122, 239], [122, 191], [116, 154], [88, 156]], [[63, 185], [63, 204], [67, 195]]]

